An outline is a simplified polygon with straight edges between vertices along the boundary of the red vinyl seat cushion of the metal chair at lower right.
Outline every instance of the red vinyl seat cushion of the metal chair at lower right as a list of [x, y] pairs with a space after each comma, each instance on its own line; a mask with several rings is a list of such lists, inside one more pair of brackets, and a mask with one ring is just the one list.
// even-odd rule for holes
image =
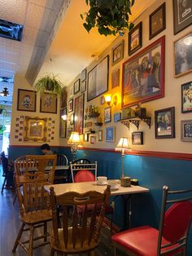
[[[154, 227], [142, 226], [131, 228], [127, 231], [117, 233], [111, 237], [111, 240], [124, 249], [136, 254], [137, 256], [156, 256], [158, 245], [159, 231]], [[162, 244], [167, 244], [168, 241], [162, 238]], [[169, 249], [174, 246], [170, 246]], [[177, 250], [177, 252], [181, 249]], [[175, 255], [174, 253], [166, 254], [166, 256]]]

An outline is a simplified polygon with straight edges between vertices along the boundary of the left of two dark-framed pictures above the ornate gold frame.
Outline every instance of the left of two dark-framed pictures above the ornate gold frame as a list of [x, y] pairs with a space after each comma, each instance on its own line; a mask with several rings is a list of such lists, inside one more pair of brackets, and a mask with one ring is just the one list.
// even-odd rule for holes
[[36, 112], [37, 92], [34, 90], [18, 89], [17, 110]]

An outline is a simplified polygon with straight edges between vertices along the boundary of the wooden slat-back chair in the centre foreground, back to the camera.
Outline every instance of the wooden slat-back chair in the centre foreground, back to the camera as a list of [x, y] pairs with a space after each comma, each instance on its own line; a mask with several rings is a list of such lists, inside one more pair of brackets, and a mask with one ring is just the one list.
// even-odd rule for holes
[[[51, 253], [55, 252], [68, 254], [89, 253], [94, 250], [99, 243], [99, 236], [102, 228], [106, 205], [109, 202], [110, 186], [104, 193], [66, 192], [55, 196], [54, 188], [50, 188], [50, 206], [53, 214], [53, 232], [50, 235]], [[88, 221], [87, 207], [94, 204], [92, 215]], [[103, 204], [98, 214], [97, 205]], [[85, 205], [85, 210], [81, 218], [77, 213], [77, 207]], [[73, 213], [68, 214], [68, 207], [73, 206]], [[61, 227], [59, 227], [57, 209], [62, 209]]]

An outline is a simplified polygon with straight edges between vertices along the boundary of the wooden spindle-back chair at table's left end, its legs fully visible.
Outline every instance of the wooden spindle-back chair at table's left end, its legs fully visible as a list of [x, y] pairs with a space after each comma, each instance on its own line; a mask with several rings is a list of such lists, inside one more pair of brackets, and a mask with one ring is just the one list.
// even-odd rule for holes
[[[49, 196], [44, 190], [44, 185], [47, 184], [47, 177], [42, 172], [33, 174], [18, 175], [15, 174], [15, 184], [20, 205], [20, 220], [22, 225], [12, 252], [20, 245], [29, 256], [33, 255], [33, 249], [49, 244], [47, 241], [47, 222], [51, 220], [51, 210]], [[20, 186], [22, 184], [22, 187]], [[28, 227], [24, 229], [25, 225]], [[43, 227], [41, 236], [33, 237], [35, 228]], [[28, 232], [28, 240], [22, 240], [23, 232]], [[26, 237], [24, 236], [26, 239]], [[36, 246], [33, 241], [39, 241]], [[28, 246], [27, 246], [28, 245]]]

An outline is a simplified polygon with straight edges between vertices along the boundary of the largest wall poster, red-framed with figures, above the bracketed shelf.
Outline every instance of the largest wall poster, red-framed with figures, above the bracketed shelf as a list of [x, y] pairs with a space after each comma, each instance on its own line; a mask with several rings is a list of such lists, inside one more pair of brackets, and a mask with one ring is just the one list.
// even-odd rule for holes
[[122, 108], [164, 97], [164, 42], [159, 38], [124, 62]]

